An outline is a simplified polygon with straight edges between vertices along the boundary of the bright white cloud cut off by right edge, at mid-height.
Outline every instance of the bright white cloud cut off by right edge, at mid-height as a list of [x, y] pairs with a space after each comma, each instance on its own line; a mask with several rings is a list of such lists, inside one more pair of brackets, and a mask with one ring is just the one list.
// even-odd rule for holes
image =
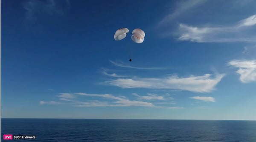
[[240, 75], [242, 83], [256, 81], [256, 60], [233, 60], [228, 62], [228, 65], [239, 68], [236, 72]]

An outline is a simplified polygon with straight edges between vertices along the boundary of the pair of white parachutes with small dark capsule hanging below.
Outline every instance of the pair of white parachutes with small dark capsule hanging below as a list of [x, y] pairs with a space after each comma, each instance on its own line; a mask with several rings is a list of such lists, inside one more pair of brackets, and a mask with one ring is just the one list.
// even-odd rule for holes
[[[114, 39], [116, 41], [120, 41], [126, 37], [126, 33], [128, 32], [129, 32], [129, 29], [127, 28], [118, 29], [116, 30]], [[145, 38], [145, 32], [142, 29], [137, 28], [132, 31], [131, 40], [134, 41], [135, 43], [143, 43], [144, 38]], [[131, 58], [129, 61], [131, 62]]]

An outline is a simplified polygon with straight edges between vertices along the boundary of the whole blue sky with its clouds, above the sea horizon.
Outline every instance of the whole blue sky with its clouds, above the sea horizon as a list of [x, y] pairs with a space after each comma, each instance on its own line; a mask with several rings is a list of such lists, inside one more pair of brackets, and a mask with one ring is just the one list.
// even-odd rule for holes
[[2, 0], [1, 117], [256, 120], [255, 5]]

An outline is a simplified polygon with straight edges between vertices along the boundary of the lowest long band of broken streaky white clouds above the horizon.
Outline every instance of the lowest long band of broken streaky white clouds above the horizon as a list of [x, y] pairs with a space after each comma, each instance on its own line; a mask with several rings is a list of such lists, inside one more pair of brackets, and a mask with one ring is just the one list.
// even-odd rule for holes
[[[70, 94], [70, 93], [62, 93], [62, 94]], [[99, 100], [87, 100], [87, 101], [77, 101], [75, 99], [65, 99], [60, 98], [62, 102], [58, 101], [40, 101], [40, 104], [70, 104], [74, 107], [131, 107], [131, 106], [137, 106], [137, 107], [154, 107], [154, 108], [168, 108], [168, 109], [182, 109], [183, 107], [169, 107], [168, 104], [176, 104], [173, 100], [173, 98], [163, 98], [163, 96], [158, 96], [156, 94], [148, 93], [148, 96], [139, 96], [136, 93], [133, 93], [134, 96], [137, 96], [137, 100], [130, 100], [126, 96], [113, 96], [111, 94], [89, 94], [89, 93], [72, 93], [71, 95], [76, 96], [90, 96], [95, 98], [101, 98], [101, 101]], [[102, 99], [105, 99], [102, 101]], [[158, 100], [158, 102], [155, 102], [158, 105], [154, 105], [151, 102], [141, 101], [143, 100]], [[167, 100], [167, 101], [166, 101]], [[63, 102], [64, 101], [64, 102]], [[162, 101], [162, 102], [160, 102]], [[167, 105], [167, 106], [161, 106]]]

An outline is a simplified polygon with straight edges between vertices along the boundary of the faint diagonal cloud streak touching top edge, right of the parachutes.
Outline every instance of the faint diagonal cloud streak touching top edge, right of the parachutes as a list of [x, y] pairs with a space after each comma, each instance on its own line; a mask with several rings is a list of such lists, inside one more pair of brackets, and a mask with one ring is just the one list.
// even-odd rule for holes
[[189, 12], [201, 4], [207, 2], [207, 0], [179, 0], [175, 6], [175, 10], [167, 14], [159, 23], [158, 26], [163, 26], [172, 22], [172, 20], [181, 14]]

